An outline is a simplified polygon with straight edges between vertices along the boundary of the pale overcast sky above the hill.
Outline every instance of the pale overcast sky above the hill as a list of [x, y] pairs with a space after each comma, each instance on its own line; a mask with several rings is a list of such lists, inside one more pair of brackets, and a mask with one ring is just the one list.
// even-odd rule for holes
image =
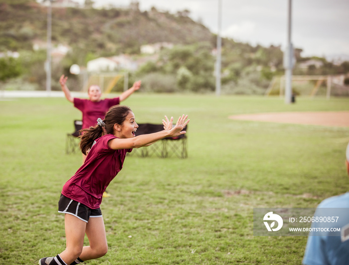
[[[84, 0], [78, 0], [84, 1]], [[128, 5], [131, 0], [94, 0], [97, 5]], [[288, 0], [221, 0], [221, 34], [263, 46], [287, 42]], [[155, 6], [190, 17], [212, 32], [218, 29], [218, 0], [139, 0], [141, 10]], [[292, 0], [292, 42], [302, 56], [346, 55], [349, 60], [349, 0]], [[343, 57], [343, 56], [342, 56]]]

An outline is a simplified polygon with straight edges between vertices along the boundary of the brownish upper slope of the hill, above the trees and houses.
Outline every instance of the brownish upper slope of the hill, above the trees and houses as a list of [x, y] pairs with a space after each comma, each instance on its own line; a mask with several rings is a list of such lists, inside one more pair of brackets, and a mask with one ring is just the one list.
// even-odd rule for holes
[[[0, 3], [0, 46], [10, 48], [9, 41], [15, 45], [12, 50], [31, 50], [33, 40], [46, 41], [46, 9], [39, 4]], [[109, 54], [126, 52], [130, 45], [162, 41], [188, 44], [211, 38], [212, 33], [202, 24], [169, 12], [52, 8], [52, 44], [77, 45], [98, 54], [105, 50]]]

